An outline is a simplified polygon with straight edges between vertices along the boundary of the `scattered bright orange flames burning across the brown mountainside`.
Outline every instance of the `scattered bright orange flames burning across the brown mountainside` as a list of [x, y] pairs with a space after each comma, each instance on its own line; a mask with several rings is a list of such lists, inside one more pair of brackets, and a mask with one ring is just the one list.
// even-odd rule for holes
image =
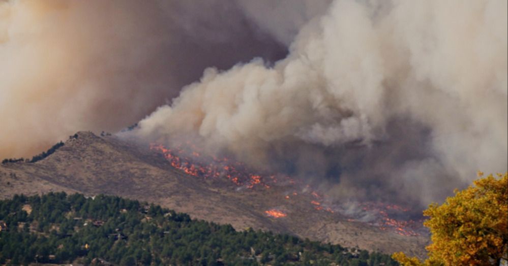
[[[283, 175], [270, 175], [266, 173], [254, 173], [246, 167], [242, 162], [238, 162], [226, 157], [207, 156], [200, 152], [197, 147], [187, 143], [186, 148], [182, 146], [166, 148], [160, 144], [151, 144], [150, 149], [158, 151], [164, 155], [170, 165], [184, 173], [205, 179], [225, 178], [236, 186], [254, 189], [261, 187], [268, 189], [271, 185], [284, 182], [294, 185], [295, 180]], [[281, 182], [283, 181], [283, 182]], [[301, 184], [301, 183], [300, 183]], [[303, 184], [301, 184], [303, 186]], [[309, 191], [309, 192], [306, 192]], [[304, 194], [308, 194], [314, 198], [310, 203], [317, 211], [326, 211], [334, 213], [334, 211], [321, 202], [328, 202], [326, 194], [320, 194], [313, 191], [311, 186], [305, 186]], [[295, 191], [290, 193], [292, 196], [298, 195]], [[290, 196], [285, 195], [284, 198], [289, 200]], [[382, 230], [394, 230], [397, 234], [403, 236], [418, 236], [416, 227], [419, 223], [412, 220], [398, 220], [393, 217], [394, 213], [405, 213], [409, 210], [398, 205], [387, 205], [381, 203], [367, 203], [361, 205], [363, 210], [374, 213], [378, 218], [372, 224], [379, 226]], [[265, 211], [266, 215], [281, 218], [287, 215], [279, 210], [272, 209]], [[351, 219], [348, 219], [351, 220]]]

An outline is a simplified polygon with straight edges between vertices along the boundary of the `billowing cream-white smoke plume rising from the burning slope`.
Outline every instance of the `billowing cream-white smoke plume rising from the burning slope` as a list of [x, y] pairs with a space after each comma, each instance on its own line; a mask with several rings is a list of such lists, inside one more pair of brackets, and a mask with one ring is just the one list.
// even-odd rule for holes
[[506, 171], [507, 24], [506, 1], [335, 1], [285, 59], [206, 69], [137, 134], [195, 136], [337, 196], [439, 201]]

